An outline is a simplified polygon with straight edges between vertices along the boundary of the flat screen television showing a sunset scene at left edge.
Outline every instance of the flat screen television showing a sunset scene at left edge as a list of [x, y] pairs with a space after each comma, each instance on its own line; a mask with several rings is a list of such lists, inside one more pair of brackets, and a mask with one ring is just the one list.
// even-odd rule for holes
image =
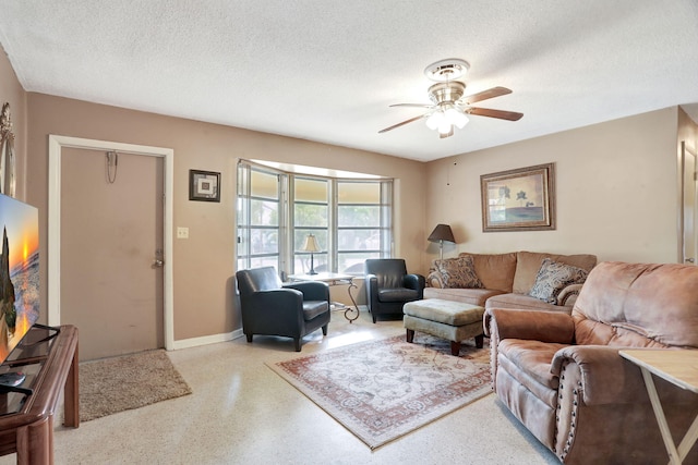
[[39, 317], [38, 210], [0, 194], [0, 363]]

